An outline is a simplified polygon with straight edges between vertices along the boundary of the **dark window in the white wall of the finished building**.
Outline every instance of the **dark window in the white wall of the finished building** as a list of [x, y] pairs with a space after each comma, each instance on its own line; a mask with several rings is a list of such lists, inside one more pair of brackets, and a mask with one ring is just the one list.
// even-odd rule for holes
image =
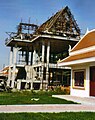
[[84, 87], [85, 71], [74, 71], [74, 86]]

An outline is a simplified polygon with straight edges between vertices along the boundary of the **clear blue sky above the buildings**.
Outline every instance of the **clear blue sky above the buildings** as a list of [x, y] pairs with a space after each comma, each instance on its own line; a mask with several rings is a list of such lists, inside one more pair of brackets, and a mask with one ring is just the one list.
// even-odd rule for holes
[[68, 6], [84, 34], [95, 28], [95, 0], [0, 0], [0, 69], [9, 64], [10, 48], [5, 46], [6, 32], [16, 32], [21, 22], [41, 25]]

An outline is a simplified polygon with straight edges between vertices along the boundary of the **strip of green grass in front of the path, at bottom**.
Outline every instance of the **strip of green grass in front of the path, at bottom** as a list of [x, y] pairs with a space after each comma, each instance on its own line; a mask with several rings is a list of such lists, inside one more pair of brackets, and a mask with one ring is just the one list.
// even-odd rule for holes
[[95, 120], [93, 112], [0, 113], [0, 120]]

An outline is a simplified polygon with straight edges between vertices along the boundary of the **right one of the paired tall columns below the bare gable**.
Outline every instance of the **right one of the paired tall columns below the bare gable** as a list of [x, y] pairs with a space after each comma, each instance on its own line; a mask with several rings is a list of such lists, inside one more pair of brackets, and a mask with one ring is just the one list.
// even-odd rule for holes
[[48, 89], [48, 80], [49, 80], [49, 56], [50, 56], [50, 42], [48, 42], [47, 45], [46, 89]]

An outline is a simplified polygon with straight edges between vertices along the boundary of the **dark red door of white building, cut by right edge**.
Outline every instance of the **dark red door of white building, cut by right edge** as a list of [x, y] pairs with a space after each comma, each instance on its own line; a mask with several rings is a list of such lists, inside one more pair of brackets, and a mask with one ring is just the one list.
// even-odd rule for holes
[[95, 96], [95, 66], [90, 67], [90, 96]]

